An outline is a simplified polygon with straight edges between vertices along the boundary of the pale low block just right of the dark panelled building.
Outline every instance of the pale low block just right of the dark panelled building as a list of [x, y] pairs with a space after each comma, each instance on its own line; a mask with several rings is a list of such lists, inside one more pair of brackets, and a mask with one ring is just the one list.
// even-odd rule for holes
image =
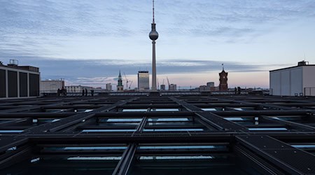
[[64, 80], [41, 80], [41, 93], [56, 93], [64, 88]]

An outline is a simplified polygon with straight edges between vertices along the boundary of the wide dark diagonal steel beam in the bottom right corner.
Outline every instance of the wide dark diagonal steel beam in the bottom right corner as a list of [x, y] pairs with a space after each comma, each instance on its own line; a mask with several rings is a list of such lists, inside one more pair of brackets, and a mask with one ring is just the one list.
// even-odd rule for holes
[[246, 148], [289, 174], [315, 174], [315, 156], [269, 136], [237, 136]]

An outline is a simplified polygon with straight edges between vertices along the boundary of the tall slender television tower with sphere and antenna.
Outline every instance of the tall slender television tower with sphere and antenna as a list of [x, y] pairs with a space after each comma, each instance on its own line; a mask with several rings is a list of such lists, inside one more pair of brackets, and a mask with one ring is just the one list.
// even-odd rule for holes
[[154, 0], [153, 0], [153, 22], [151, 24], [151, 31], [149, 37], [152, 40], [152, 90], [156, 89], [156, 65], [155, 65], [155, 40], [158, 39], [159, 34], [158, 31], [155, 29], [155, 22], [154, 22]]

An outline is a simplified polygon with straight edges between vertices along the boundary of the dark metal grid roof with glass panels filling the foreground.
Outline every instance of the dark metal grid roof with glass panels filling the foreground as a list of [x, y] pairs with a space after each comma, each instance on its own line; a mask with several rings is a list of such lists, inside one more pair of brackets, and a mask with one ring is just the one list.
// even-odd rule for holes
[[0, 101], [1, 174], [315, 174], [315, 98]]

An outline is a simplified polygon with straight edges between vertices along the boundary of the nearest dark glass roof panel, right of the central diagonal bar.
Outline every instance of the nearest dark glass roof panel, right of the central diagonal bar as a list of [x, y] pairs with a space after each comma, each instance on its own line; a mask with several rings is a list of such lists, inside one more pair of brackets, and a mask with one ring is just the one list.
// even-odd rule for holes
[[231, 155], [138, 155], [129, 174], [259, 174]]

